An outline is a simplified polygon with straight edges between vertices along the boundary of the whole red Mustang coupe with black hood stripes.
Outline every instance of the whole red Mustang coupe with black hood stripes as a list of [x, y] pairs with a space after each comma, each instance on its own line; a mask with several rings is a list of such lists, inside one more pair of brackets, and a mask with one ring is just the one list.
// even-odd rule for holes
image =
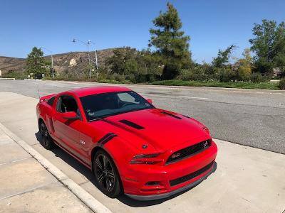
[[169, 197], [215, 168], [217, 146], [206, 126], [125, 87], [51, 94], [41, 97], [36, 113], [42, 145], [56, 144], [86, 165], [109, 197]]

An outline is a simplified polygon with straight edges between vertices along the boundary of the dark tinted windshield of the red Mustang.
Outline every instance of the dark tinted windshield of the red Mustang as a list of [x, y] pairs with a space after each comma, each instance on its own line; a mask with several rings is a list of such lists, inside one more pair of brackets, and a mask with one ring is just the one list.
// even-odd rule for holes
[[128, 111], [154, 108], [152, 104], [133, 91], [92, 94], [81, 97], [81, 103], [88, 121]]

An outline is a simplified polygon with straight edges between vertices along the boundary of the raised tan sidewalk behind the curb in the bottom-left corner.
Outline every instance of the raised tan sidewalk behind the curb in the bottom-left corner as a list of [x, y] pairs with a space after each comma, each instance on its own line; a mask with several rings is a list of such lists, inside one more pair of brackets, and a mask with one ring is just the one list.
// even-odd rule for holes
[[0, 212], [91, 212], [0, 129]]

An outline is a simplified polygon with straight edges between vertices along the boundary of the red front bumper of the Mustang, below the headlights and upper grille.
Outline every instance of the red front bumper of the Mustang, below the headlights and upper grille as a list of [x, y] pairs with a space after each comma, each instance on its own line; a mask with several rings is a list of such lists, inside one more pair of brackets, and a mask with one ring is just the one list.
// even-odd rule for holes
[[[202, 182], [214, 168], [217, 145], [169, 165], [130, 165], [122, 177], [125, 195], [138, 200], [169, 197]], [[212, 166], [208, 166], [212, 165]]]

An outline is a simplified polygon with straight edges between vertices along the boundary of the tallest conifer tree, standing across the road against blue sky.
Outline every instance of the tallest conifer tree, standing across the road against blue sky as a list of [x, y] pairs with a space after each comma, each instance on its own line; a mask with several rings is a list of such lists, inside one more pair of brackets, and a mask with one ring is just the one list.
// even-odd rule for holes
[[191, 53], [189, 51], [190, 37], [184, 35], [182, 22], [175, 7], [167, 3], [167, 11], [160, 12], [152, 23], [155, 28], [150, 29], [149, 46], [154, 46], [162, 56], [164, 65], [162, 78], [170, 80], [179, 75], [182, 68], [190, 67]]

